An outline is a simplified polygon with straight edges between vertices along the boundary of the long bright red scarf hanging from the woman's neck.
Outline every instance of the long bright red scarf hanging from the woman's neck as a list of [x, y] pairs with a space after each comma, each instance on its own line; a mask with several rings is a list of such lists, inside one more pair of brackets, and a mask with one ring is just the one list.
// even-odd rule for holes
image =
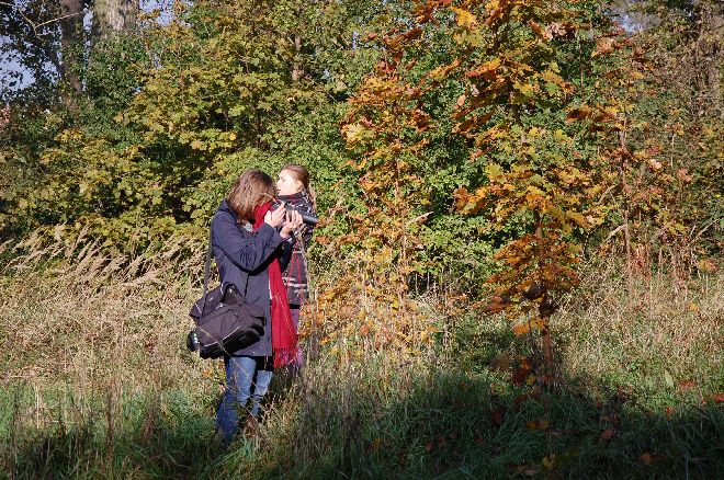
[[[271, 202], [253, 209], [253, 229], [257, 230], [264, 222], [264, 215], [271, 210]], [[272, 310], [272, 351], [274, 354], [274, 368], [283, 367], [297, 359], [297, 335], [289, 300], [286, 287], [282, 279], [282, 268], [279, 260], [274, 259], [267, 267], [269, 272], [269, 289], [271, 292]]]

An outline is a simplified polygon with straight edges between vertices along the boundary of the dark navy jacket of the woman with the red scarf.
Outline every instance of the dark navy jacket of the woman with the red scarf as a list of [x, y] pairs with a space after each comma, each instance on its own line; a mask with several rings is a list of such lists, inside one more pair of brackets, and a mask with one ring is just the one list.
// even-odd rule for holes
[[[292, 254], [292, 244], [268, 224], [251, 232], [251, 225], [239, 225], [226, 201], [214, 214], [211, 242], [222, 282], [230, 282], [244, 293], [246, 301], [264, 309], [267, 322], [259, 342], [234, 352], [233, 356], [271, 356], [271, 300], [267, 267], [280, 260], [282, 271]], [[247, 282], [248, 279], [248, 282]]]

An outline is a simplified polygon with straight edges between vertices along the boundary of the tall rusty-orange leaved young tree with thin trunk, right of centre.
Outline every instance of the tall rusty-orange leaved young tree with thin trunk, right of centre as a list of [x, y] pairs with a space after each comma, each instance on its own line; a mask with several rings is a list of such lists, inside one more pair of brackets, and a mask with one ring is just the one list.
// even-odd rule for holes
[[602, 186], [595, 181], [593, 155], [566, 128], [564, 115], [575, 98], [576, 62], [595, 32], [592, 5], [494, 0], [420, 2], [422, 23], [454, 14], [457, 55], [430, 72], [464, 85], [456, 100], [453, 134], [471, 141], [472, 162], [485, 176], [455, 192], [455, 206], [482, 214], [499, 230], [520, 236], [500, 249], [501, 270], [489, 311], [506, 311], [520, 322], [516, 332], [540, 331], [546, 370], [553, 353], [548, 318], [562, 294], [576, 285], [581, 255], [578, 233], [601, 222], [591, 202]]

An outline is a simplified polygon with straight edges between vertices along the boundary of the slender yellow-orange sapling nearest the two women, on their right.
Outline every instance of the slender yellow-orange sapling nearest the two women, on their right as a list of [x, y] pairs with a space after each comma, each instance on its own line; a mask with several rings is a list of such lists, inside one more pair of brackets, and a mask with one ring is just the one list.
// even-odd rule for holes
[[[409, 50], [420, 36], [420, 30], [393, 30], [375, 43], [380, 59], [349, 99], [342, 127], [354, 152], [348, 165], [359, 179], [361, 205], [348, 217], [351, 232], [339, 239], [350, 258], [348, 277], [323, 301], [339, 296], [349, 306], [350, 296], [363, 298], [357, 308], [339, 309], [337, 317], [353, 329], [348, 334], [371, 334], [377, 346], [406, 345], [400, 336], [419, 334], [411, 330], [416, 306], [407, 281], [420, 267], [419, 230], [430, 214], [420, 175], [428, 141], [422, 134], [430, 117], [423, 108], [425, 89], [410, 81], [408, 71], [414, 65]], [[359, 320], [359, 329], [347, 322], [350, 316]]]

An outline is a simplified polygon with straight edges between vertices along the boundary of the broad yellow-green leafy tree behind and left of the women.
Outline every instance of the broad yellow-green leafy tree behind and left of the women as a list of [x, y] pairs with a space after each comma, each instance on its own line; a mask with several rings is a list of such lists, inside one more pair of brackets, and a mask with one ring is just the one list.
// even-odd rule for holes
[[[370, 57], [350, 55], [358, 21], [347, 3], [177, 2], [168, 23], [147, 13], [137, 35], [99, 42], [78, 113], [88, 122], [49, 111], [38, 118], [53, 126], [49, 138], [24, 153], [30, 161], [20, 161], [21, 145], [0, 158], [22, 164], [23, 176], [3, 193], [0, 222], [64, 235], [89, 227], [106, 247], [133, 251], [205, 226], [246, 168], [296, 161], [333, 183], [336, 96]], [[303, 20], [287, 15], [294, 8]], [[320, 190], [324, 203], [331, 192]]]

